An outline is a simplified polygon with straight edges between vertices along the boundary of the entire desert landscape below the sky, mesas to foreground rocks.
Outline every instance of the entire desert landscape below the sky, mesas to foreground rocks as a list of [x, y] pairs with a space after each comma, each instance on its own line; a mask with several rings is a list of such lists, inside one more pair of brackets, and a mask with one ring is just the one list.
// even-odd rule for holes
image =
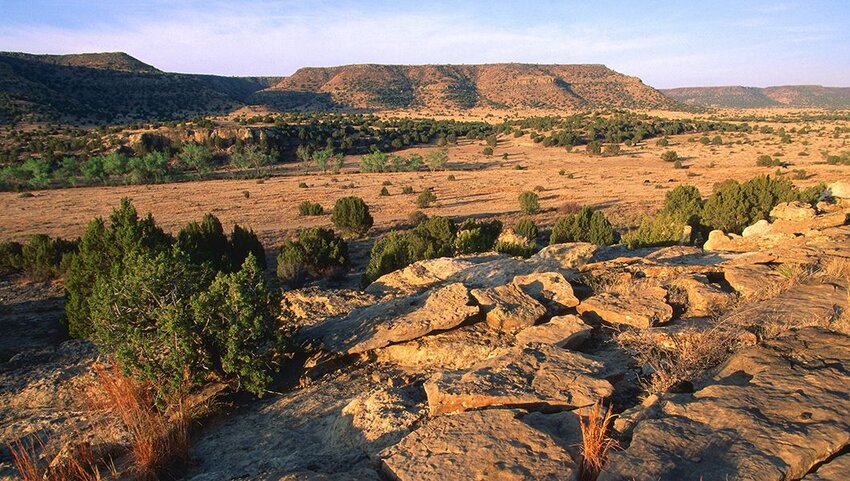
[[848, 142], [850, 88], [0, 53], [0, 479], [847, 479]]

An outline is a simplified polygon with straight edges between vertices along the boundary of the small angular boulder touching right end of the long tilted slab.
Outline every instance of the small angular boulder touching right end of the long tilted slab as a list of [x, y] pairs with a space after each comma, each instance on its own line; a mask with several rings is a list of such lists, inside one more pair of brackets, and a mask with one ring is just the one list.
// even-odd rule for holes
[[472, 297], [481, 305], [487, 324], [503, 331], [532, 326], [546, 315], [546, 308], [516, 284], [473, 289]]

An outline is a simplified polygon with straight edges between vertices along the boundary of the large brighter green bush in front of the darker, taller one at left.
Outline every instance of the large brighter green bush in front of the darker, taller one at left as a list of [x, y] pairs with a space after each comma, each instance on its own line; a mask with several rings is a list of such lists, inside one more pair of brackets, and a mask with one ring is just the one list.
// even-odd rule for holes
[[237, 272], [205, 278], [179, 249], [128, 252], [93, 288], [91, 338], [160, 396], [210, 374], [262, 395], [280, 353], [279, 303], [253, 256]]

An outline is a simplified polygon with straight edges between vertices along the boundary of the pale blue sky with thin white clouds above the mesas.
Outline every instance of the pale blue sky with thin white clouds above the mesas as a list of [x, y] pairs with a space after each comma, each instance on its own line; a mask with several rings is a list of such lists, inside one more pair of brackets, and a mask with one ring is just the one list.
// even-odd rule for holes
[[601, 63], [657, 88], [850, 86], [850, 1], [0, 0], [0, 51], [218, 75]]

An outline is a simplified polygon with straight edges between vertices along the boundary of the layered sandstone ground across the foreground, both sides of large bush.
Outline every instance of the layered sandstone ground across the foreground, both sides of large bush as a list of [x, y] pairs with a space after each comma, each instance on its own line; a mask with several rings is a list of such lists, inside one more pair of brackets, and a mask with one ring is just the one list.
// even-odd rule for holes
[[[207, 422], [186, 478], [578, 479], [605, 400], [600, 480], [847, 479], [848, 216], [782, 204], [706, 249], [559, 244], [287, 292], [297, 386]], [[3, 441], [81, 416], [95, 354], [39, 352], [0, 373]]]

